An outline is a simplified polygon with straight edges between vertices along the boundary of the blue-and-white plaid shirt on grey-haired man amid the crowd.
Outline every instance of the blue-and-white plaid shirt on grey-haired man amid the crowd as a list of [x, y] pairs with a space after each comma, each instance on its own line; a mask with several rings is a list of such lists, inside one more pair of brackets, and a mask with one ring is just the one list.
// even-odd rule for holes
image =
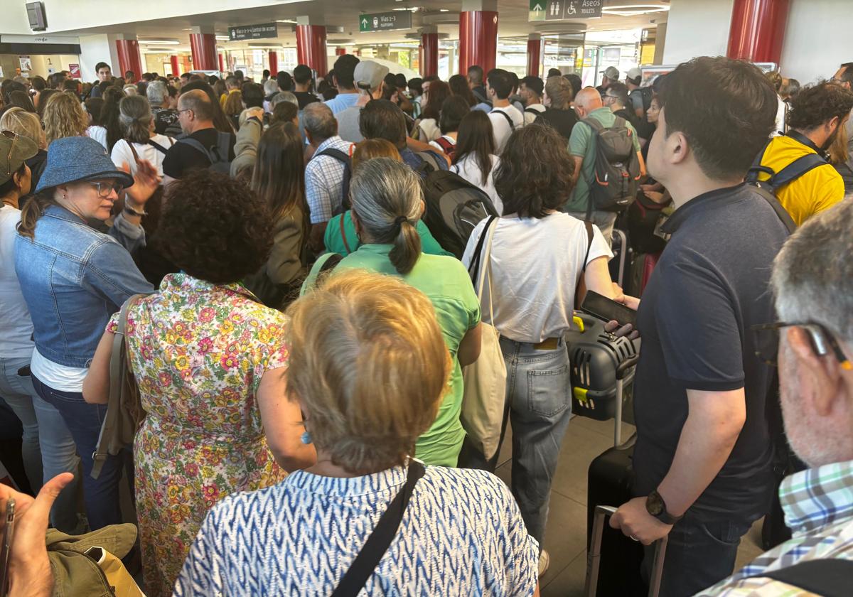
[[308, 201], [311, 223], [328, 222], [341, 207], [344, 183], [344, 164], [328, 155], [319, 155], [328, 148], [339, 149], [350, 155], [352, 143], [339, 136], [331, 136], [314, 152], [305, 166], [305, 200]]

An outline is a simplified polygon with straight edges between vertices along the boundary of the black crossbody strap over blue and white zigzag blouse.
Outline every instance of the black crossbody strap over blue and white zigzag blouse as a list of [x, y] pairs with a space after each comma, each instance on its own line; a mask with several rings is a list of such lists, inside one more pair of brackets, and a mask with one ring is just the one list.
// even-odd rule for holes
[[391, 547], [394, 537], [397, 536], [397, 530], [403, 521], [403, 513], [406, 511], [406, 506], [409, 505], [409, 498], [415, 490], [418, 479], [424, 476], [424, 472], [426, 469], [421, 462], [414, 458], [409, 459], [406, 484], [403, 485], [403, 489], [397, 493], [397, 496], [394, 496], [391, 505], [382, 514], [362, 550], [352, 561], [350, 569], [346, 571], [338, 583], [338, 587], [334, 589], [332, 597], [356, 597], [364, 588], [368, 578], [374, 573], [376, 566], [379, 565], [380, 560]]

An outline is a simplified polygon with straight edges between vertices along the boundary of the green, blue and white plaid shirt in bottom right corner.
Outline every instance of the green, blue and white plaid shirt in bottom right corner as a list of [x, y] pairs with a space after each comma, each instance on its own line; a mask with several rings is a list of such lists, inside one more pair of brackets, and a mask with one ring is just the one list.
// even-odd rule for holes
[[804, 592], [769, 578], [748, 577], [809, 559], [853, 559], [853, 461], [786, 477], [779, 488], [779, 498], [792, 539], [699, 595], [793, 597]]

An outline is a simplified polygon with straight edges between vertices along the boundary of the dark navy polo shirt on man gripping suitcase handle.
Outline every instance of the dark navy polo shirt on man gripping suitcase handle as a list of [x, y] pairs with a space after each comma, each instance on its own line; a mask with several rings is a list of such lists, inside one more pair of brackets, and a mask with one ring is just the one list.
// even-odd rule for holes
[[672, 237], [637, 316], [635, 496], [657, 489], [669, 471], [688, 390], [744, 388], [740, 437], [690, 511], [704, 521], [750, 522], [766, 512], [774, 490], [764, 410], [771, 368], [755, 356], [750, 327], [775, 320], [769, 276], [787, 231], [745, 184], [695, 197], [663, 229]]

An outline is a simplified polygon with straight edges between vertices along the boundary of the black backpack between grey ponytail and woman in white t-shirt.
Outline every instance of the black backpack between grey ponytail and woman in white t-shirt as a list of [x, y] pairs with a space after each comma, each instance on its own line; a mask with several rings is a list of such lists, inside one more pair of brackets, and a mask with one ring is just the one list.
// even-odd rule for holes
[[462, 258], [474, 227], [497, 216], [489, 195], [455, 172], [434, 170], [424, 178], [427, 211], [423, 221], [445, 251]]

